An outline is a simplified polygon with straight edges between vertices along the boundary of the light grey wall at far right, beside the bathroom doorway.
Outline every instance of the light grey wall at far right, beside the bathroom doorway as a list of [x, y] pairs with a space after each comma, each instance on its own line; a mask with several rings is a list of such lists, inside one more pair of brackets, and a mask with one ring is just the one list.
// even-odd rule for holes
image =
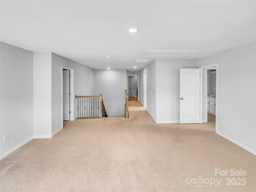
[[[256, 44], [198, 60], [218, 64], [218, 134], [256, 154]], [[205, 92], [205, 90], [203, 90]]]

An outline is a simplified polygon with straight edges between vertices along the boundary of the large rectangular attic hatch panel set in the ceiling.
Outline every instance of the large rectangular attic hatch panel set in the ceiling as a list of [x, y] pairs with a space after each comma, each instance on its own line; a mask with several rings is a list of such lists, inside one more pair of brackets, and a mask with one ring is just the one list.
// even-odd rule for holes
[[198, 50], [146, 50], [144, 57], [186, 57]]

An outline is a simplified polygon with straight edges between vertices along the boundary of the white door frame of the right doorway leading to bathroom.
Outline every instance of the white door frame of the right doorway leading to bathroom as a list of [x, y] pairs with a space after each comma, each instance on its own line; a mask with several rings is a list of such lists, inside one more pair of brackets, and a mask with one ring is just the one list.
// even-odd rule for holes
[[204, 75], [204, 79], [206, 82], [204, 94], [202, 96], [203, 97], [202, 102], [206, 105], [206, 107], [203, 110], [203, 114], [206, 116], [206, 120], [203, 121], [204, 123], [208, 122], [208, 118], [207, 118], [207, 94], [208, 94], [207, 93], [207, 70], [208, 69], [216, 69], [215, 132], [218, 132], [218, 108], [219, 108], [219, 102], [218, 102], [218, 98], [219, 98], [219, 69], [218, 69], [218, 64], [206, 65], [206, 66], [201, 66], [198, 68], [203, 69], [203, 75]]

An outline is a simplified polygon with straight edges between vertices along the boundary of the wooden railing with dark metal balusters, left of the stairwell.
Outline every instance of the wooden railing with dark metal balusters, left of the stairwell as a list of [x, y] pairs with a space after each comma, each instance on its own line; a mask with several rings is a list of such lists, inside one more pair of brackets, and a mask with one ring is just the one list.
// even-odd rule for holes
[[102, 94], [96, 96], [77, 96], [78, 118], [108, 117]]

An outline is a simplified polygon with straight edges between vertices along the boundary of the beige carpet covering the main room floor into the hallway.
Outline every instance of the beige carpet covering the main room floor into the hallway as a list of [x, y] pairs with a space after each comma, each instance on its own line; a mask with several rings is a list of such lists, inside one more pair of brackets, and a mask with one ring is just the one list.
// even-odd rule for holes
[[[128, 104], [130, 119], [65, 122], [54, 138], [33, 139], [1, 160], [1, 192], [256, 191], [256, 156], [215, 134], [214, 122], [155, 124], [140, 102]], [[214, 176], [215, 168], [247, 175]], [[200, 176], [205, 183], [191, 184]], [[246, 185], [227, 186], [226, 178]]]

